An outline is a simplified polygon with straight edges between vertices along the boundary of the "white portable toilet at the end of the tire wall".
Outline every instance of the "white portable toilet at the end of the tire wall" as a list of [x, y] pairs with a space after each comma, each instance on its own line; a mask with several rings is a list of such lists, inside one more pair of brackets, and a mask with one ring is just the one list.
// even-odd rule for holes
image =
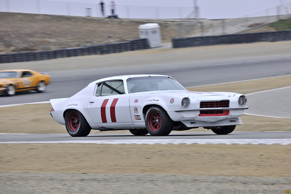
[[157, 23], [139, 25], [139, 38], [147, 38], [150, 48], [161, 46], [161, 31]]

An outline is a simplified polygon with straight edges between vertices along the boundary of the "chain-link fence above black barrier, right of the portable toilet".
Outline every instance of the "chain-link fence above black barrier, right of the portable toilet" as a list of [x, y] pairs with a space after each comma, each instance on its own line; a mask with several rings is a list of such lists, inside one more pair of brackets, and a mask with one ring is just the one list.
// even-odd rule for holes
[[[196, 19], [178, 24], [179, 37], [234, 34], [265, 26], [280, 19], [291, 18], [291, 3], [233, 19]], [[264, 16], [262, 16], [264, 15]], [[192, 11], [187, 17], [194, 17]]]

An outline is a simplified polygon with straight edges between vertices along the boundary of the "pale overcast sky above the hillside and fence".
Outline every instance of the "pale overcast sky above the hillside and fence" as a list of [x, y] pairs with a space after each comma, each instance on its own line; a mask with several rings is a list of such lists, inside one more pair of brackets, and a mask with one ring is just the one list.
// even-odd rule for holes
[[[1, 3], [2, 1], [2, 3]], [[25, 2], [29, 1], [32, 4], [36, 4], [36, 0], [0, 0], [0, 11], [5, 11], [5, 2], [10, 2], [10, 10], [13, 10], [13, 5], [18, 6], [19, 9], [24, 9], [24, 6], [27, 6], [26, 9], [32, 9], [29, 8], [29, 5]], [[40, 0], [42, 1], [42, 0]], [[45, 0], [41, 3], [41, 9], [44, 11], [44, 5], [48, 5], [49, 1], [58, 1], [58, 2], [72, 2], [72, 3], [90, 3], [90, 4], [98, 4], [100, 3], [100, 0]], [[111, 0], [104, 0], [105, 6], [107, 11], [109, 12], [109, 2]], [[159, 9], [159, 16], [162, 17], [162, 12], [175, 12], [174, 18], [179, 17], [182, 15], [182, 18], [185, 18], [186, 15], [189, 14], [189, 12], [192, 10], [194, 0], [115, 0], [117, 8], [116, 12], [123, 16], [125, 15], [126, 8], [125, 6], [131, 6], [130, 7], [130, 17], [133, 17], [133, 12], [151, 12], [155, 13], [155, 8], [138, 8], [138, 7], [132, 7], [132, 6], [152, 6], [152, 7], [188, 7], [185, 9], [179, 10], [178, 15], [178, 9], [173, 8], [160, 8]], [[55, 3], [57, 4], [57, 3]], [[60, 4], [60, 3], [59, 3]], [[197, 0], [198, 7], [200, 9], [200, 17], [201, 18], [207, 18], [207, 19], [223, 19], [223, 18], [236, 18], [236, 17], [256, 17], [256, 16], [265, 16], [267, 14], [269, 15], [276, 15], [276, 6], [279, 5], [285, 5], [285, 8], [282, 8], [281, 13], [291, 13], [291, 0]], [[1, 8], [2, 5], [2, 8]], [[73, 9], [72, 5], [71, 9]], [[120, 7], [118, 7], [120, 6]], [[32, 7], [32, 6], [30, 6]], [[52, 6], [52, 8], [55, 8], [56, 6]], [[58, 7], [58, 6], [57, 6]], [[80, 6], [81, 7], [81, 6]], [[47, 6], [47, 9], [52, 9], [49, 6]], [[16, 9], [16, 8], [15, 8]], [[61, 8], [59, 8], [61, 9]], [[96, 9], [96, 6], [93, 7], [93, 9]], [[268, 9], [268, 10], [267, 10]], [[181, 11], [182, 10], [182, 11]], [[267, 10], [267, 11], [266, 11]], [[94, 10], [93, 10], [94, 12]], [[107, 13], [108, 13], [107, 12]], [[183, 13], [181, 13], [183, 12]], [[29, 12], [28, 12], [29, 13]], [[72, 11], [71, 11], [72, 13]], [[56, 13], [52, 13], [56, 14]], [[94, 13], [92, 14], [94, 16]], [[98, 15], [96, 13], [95, 15]], [[178, 15], [178, 16], [177, 16]]]

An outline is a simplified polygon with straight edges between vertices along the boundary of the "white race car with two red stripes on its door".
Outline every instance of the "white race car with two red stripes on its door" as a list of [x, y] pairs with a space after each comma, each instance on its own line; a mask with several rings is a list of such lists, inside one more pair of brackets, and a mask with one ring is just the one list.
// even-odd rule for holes
[[198, 127], [229, 134], [242, 124], [246, 96], [193, 92], [165, 75], [125, 75], [93, 81], [70, 98], [51, 99], [52, 117], [71, 136], [129, 129], [134, 135], [166, 136]]

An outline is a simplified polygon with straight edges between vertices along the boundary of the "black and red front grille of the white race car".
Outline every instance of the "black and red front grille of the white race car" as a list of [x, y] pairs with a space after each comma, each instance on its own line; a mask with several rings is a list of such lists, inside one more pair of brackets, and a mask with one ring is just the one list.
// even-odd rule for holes
[[[200, 108], [227, 108], [227, 107], [229, 107], [229, 100], [200, 102]], [[226, 116], [228, 114], [229, 110], [206, 110], [200, 111], [199, 116]]]

